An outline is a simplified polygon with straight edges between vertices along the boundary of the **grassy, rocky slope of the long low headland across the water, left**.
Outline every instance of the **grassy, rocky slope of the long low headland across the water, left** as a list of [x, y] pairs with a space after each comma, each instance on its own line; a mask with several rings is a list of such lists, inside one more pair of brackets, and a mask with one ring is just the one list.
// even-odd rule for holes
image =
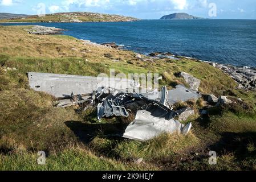
[[108, 14], [80, 14], [80, 13], [58, 13], [58, 14], [47, 14], [46, 16], [28, 16], [26, 18], [15, 18], [15, 19], [2, 19], [0, 22], [61, 22], [62, 20], [78, 19], [83, 22], [121, 22], [129, 19], [137, 20], [136, 18], [119, 16], [119, 15], [108, 15]]

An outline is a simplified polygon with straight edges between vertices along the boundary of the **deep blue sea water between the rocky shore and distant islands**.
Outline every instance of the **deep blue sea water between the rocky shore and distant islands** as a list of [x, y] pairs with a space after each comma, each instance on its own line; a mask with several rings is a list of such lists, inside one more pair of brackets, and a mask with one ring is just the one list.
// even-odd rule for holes
[[91, 42], [115, 42], [147, 54], [171, 52], [222, 64], [256, 67], [256, 20], [141, 20], [97, 23], [39, 24], [67, 29]]

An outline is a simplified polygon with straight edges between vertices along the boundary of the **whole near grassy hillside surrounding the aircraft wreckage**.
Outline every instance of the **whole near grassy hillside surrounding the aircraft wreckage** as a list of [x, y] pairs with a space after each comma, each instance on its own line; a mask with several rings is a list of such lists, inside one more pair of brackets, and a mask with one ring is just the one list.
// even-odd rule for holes
[[[143, 62], [131, 51], [85, 46], [70, 36], [30, 35], [25, 28], [0, 26], [0, 169], [255, 168], [256, 93], [233, 90], [235, 82], [222, 71], [189, 59]], [[107, 53], [120, 61], [113, 62], [104, 56]], [[16, 70], [5, 71], [7, 67]], [[189, 119], [194, 127], [186, 137], [162, 135], [141, 143], [104, 137], [122, 127], [120, 119], [97, 123], [94, 110], [55, 108], [54, 98], [27, 85], [29, 71], [97, 76], [110, 68], [116, 73], [160, 73], [160, 84], [169, 87], [184, 83], [174, 73], [185, 71], [200, 78], [201, 92], [227, 93], [246, 103], [212, 109], [205, 118], [195, 115]], [[188, 104], [202, 108], [199, 102]], [[209, 149], [220, 155], [217, 166], [207, 164]], [[36, 165], [39, 150], [47, 152], [47, 166]], [[145, 164], [133, 164], [141, 157]]]

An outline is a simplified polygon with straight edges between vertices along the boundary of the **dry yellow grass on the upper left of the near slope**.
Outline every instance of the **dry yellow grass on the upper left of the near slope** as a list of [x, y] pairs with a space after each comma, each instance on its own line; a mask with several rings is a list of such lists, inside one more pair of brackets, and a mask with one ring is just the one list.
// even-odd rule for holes
[[[112, 52], [120, 58], [131, 57], [131, 52], [108, 47], [84, 45], [82, 40], [71, 36], [34, 35], [24, 26], [0, 26], [0, 52], [11, 56], [26, 57], [88, 57], [91, 61], [107, 60], [104, 53]], [[119, 57], [113, 56], [113, 59]]]

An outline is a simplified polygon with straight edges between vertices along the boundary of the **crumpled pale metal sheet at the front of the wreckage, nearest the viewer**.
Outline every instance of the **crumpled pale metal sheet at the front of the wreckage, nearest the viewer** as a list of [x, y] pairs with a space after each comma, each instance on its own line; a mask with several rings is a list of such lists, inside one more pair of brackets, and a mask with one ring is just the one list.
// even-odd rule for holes
[[[124, 138], [147, 141], [155, 138], [162, 133], [182, 133], [187, 134], [191, 129], [191, 123], [185, 127], [172, 119], [154, 117], [150, 111], [137, 111], [135, 120], [125, 130]], [[183, 130], [184, 129], [184, 130]]]

